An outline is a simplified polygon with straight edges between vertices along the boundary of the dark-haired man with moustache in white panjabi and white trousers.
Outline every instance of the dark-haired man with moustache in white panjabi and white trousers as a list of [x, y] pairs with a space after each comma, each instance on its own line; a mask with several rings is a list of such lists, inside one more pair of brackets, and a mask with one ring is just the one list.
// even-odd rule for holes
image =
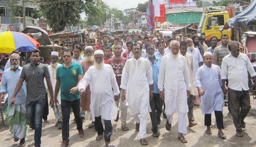
[[130, 114], [136, 121], [141, 145], [147, 145], [145, 135], [148, 112], [151, 112], [149, 99], [153, 97], [154, 92], [153, 72], [148, 59], [141, 57], [142, 46], [135, 43], [131, 51], [134, 56], [126, 61], [122, 70], [122, 100], [126, 99], [128, 102]]

